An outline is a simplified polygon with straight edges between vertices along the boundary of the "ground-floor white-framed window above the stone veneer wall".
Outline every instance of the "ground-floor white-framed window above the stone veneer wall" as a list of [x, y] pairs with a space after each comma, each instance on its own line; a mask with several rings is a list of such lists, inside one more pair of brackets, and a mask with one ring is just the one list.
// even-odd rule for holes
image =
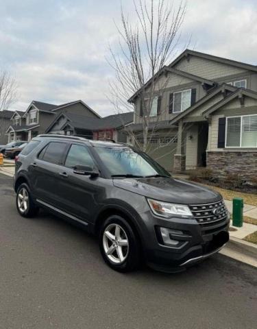
[[257, 114], [226, 119], [226, 147], [257, 147]]

